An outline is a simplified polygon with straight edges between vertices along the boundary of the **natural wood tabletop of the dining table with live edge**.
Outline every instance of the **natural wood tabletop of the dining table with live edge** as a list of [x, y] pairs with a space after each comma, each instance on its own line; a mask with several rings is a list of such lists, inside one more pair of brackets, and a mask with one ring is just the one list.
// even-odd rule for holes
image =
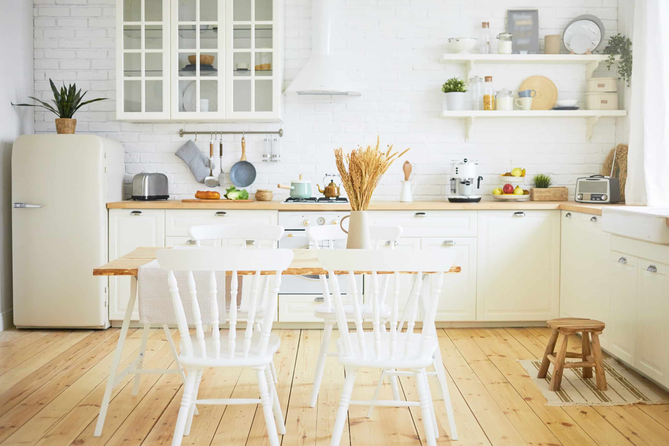
[[[93, 269], [93, 275], [137, 275], [137, 270], [140, 266], [146, 265], [156, 258], [156, 251], [158, 249], [169, 249], [164, 247], [139, 247], [112, 260], [109, 263]], [[284, 274], [290, 275], [318, 275], [327, 274], [327, 271], [320, 267], [320, 263], [316, 258], [316, 249], [293, 249], [294, 258], [290, 263], [290, 267], [284, 271]], [[354, 251], [354, 250], [351, 250]], [[349, 271], [334, 271], [335, 274], [346, 274]], [[356, 273], [371, 273], [371, 271], [355, 271]], [[379, 274], [389, 273], [390, 271], [377, 271]], [[402, 273], [415, 274], [417, 271], [401, 271]], [[436, 271], [422, 271], [423, 273], [434, 273]], [[449, 273], [459, 273], [459, 266], [452, 266]], [[231, 274], [231, 272], [229, 272]], [[252, 275], [256, 271], [237, 271], [237, 274]], [[273, 274], [274, 271], [262, 271], [262, 274]]]

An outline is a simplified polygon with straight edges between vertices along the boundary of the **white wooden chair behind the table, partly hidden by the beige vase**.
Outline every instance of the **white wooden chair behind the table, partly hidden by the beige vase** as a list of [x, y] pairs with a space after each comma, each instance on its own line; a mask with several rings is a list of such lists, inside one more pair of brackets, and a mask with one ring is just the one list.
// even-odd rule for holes
[[[399, 237], [402, 235], [401, 226], [371, 226], [369, 227], [369, 234], [372, 237], [372, 245], [375, 249], [388, 245], [390, 249], [395, 247], [395, 243], [399, 240]], [[347, 239], [347, 233], [341, 230], [339, 225], [324, 225], [324, 226], [314, 226], [306, 228], [306, 236], [309, 239], [309, 245], [313, 245], [316, 249], [321, 248], [330, 248], [334, 249], [336, 243], [339, 240]], [[311, 397], [309, 400], [309, 406], [315, 407], [316, 401], [318, 401], [318, 391], [320, 390], [320, 381], [323, 377], [323, 370], [325, 368], [325, 360], [327, 356], [337, 356], [337, 352], [328, 352], [330, 347], [330, 336], [332, 335], [332, 327], [337, 322], [337, 314], [334, 312], [334, 306], [330, 300], [330, 292], [328, 290], [328, 283], [326, 280], [326, 275], [318, 275], [320, 278], [320, 283], [323, 288], [323, 302], [324, 304], [318, 306], [314, 310], [314, 316], [320, 318], [325, 322], [325, 328], [323, 330], [323, 337], [320, 342], [320, 352], [318, 353], [318, 362], [316, 362], [316, 372], [314, 372], [314, 384], [311, 390]], [[387, 286], [388, 277], [385, 278], [385, 286]], [[356, 284], [353, 282], [351, 284], [353, 290], [349, 291], [348, 302], [344, 306], [344, 311], [348, 319], [353, 319], [353, 302], [351, 301], [352, 292], [355, 290]], [[362, 304], [362, 302], [361, 302]], [[369, 304], [362, 304], [361, 312], [364, 319], [371, 318], [372, 308]], [[390, 307], [381, 303], [381, 320], [385, 322], [390, 316]], [[395, 376], [389, 376], [390, 385], [393, 391], [393, 397], [399, 399], [399, 388], [397, 387], [397, 378]]]

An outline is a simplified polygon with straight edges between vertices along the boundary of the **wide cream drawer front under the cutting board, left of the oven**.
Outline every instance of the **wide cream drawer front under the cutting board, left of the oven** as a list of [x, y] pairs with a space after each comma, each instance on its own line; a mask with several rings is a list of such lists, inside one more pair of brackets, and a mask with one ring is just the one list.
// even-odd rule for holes
[[165, 235], [188, 237], [195, 225], [276, 225], [278, 211], [240, 209], [167, 209]]

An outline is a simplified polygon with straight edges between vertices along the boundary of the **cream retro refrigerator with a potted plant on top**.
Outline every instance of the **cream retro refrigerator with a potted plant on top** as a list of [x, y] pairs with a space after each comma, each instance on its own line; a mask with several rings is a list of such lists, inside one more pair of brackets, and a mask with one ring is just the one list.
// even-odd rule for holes
[[11, 154], [14, 324], [106, 328], [109, 201], [122, 199], [121, 144], [86, 134], [19, 136]]

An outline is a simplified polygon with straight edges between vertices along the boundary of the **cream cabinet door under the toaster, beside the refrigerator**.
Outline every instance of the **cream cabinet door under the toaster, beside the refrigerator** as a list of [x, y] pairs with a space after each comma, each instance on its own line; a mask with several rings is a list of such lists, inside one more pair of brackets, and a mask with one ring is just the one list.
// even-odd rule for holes
[[[118, 259], [140, 246], [165, 246], [165, 210], [110, 209], [109, 258]], [[132, 277], [109, 277], [109, 319], [122, 320]], [[139, 320], [135, 302], [132, 320]]]

